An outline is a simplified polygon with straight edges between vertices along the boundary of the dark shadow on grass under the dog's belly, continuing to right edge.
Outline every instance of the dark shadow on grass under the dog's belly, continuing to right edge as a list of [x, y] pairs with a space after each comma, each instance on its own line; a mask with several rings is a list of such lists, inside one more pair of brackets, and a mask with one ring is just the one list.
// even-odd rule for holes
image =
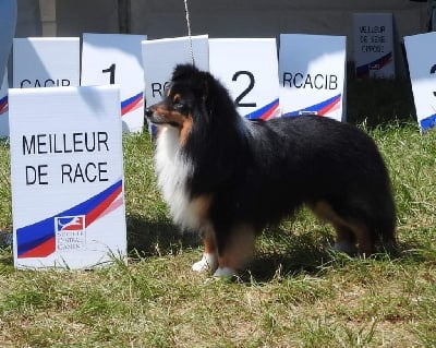
[[[350, 263], [360, 262], [358, 256], [335, 251], [331, 248], [334, 235], [327, 230], [306, 231], [295, 236], [279, 229], [271, 236], [264, 233], [261, 238], [267, 239], [267, 247], [263, 248], [261, 243], [246, 271], [241, 273], [241, 280], [247, 284], [252, 278], [268, 283], [289, 275], [322, 276], [331, 267], [343, 268]], [[397, 248], [382, 250], [370, 259], [402, 265], [428, 262], [436, 264], [436, 251], [425, 241], [400, 242]]]

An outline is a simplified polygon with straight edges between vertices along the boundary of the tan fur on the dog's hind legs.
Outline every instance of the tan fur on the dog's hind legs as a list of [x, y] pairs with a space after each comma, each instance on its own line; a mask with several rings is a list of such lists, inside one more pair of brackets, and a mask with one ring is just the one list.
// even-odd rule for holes
[[318, 216], [320, 219], [329, 221], [335, 227], [337, 232], [336, 245], [338, 247], [338, 250], [351, 252], [354, 245], [354, 236], [359, 244], [359, 252], [365, 255], [371, 254], [372, 245], [370, 231], [363, 224], [346, 221], [338, 214], [336, 214], [331, 206], [325, 201], [319, 201], [310, 207], [316, 216]]

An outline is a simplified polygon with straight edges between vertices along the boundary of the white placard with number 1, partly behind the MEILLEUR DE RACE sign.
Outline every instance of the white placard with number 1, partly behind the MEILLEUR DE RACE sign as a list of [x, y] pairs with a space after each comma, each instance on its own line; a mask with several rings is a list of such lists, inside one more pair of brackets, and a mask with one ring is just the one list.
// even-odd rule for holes
[[119, 84], [125, 132], [144, 128], [144, 71], [141, 43], [146, 35], [83, 34], [81, 84]]

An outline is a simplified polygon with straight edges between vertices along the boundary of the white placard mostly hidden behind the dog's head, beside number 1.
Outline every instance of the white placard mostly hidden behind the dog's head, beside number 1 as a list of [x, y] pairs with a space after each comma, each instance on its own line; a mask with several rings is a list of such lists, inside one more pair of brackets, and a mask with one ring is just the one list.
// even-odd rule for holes
[[[153, 105], [164, 96], [172, 71], [177, 64], [191, 63], [191, 43], [189, 37], [165, 38], [142, 43], [147, 105]], [[192, 52], [195, 65], [209, 70], [207, 35], [192, 36]]]

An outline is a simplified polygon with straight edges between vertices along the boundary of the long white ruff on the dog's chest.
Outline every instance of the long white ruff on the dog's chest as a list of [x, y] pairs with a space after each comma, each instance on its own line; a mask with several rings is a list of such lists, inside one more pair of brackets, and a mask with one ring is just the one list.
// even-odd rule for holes
[[190, 200], [186, 181], [192, 165], [182, 157], [179, 130], [165, 127], [157, 139], [155, 166], [158, 185], [170, 207], [172, 218], [182, 228], [199, 229], [196, 202]]

